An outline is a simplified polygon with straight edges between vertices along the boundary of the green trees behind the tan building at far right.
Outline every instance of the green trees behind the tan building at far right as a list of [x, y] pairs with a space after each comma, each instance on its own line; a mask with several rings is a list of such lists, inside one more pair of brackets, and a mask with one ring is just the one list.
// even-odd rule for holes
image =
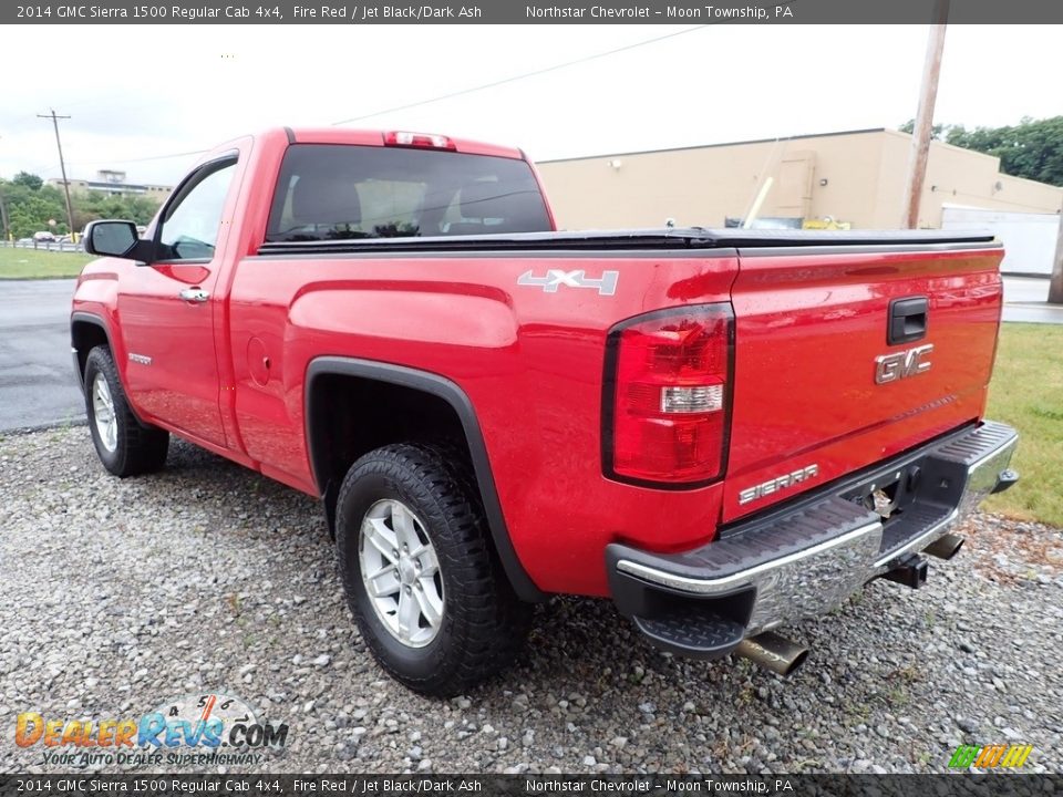
[[[914, 120], [900, 126], [905, 133], [914, 128]], [[1024, 116], [1016, 125], [973, 130], [937, 124], [932, 136], [946, 144], [999, 157], [1000, 170], [1007, 175], [1063, 187], [1063, 116]]]

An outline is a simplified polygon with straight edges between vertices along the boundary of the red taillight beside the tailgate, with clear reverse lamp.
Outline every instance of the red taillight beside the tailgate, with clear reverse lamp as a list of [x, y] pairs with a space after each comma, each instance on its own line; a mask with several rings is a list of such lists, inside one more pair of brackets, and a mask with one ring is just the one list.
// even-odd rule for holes
[[640, 315], [609, 335], [606, 469], [669, 484], [722, 475], [731, 392], [730, 304]]

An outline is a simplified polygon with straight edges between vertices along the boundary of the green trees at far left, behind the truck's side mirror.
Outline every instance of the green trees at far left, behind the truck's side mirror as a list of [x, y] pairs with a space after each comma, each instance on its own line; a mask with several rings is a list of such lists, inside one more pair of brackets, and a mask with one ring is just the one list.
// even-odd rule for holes
[[[61, 186], [48, 185], [34, 174], [19, 172], [12, 179], [0, 178], [0, 203], [3, 204], [7, 229], [4, 238], [18, 240], [47, 230], [55, 236], [81, 232], [85, 225], [101, 218], [128, 219], [146, 225], [158, 209], [151, 197], [135, 194], [112, 196], [104, 192], [71, 192], [74, 229], [66, 219], [66, 201]], [[54, 221], [54, 225], [49, 224]]]

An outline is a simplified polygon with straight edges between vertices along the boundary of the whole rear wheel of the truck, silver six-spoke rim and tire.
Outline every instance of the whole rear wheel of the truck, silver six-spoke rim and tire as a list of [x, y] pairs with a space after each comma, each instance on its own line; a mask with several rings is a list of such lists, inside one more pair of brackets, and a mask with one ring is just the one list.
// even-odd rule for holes
[[530, 618], [466, 468], [431, 446], [386, 446], [351, 466], [337, 501], [340, 575], [363, 639], [392, 676], [441, 697], [507, 666]]

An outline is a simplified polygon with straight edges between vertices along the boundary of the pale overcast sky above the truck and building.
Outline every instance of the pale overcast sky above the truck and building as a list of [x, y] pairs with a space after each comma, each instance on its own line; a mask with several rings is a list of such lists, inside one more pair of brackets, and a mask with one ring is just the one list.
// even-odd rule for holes
[[[927, 32], [922, 25], [11, 27], [0, 48], [0, 176], [20, 169], [59, 176], [51, 123], [37, 117], [50, 108], [72, 117], [61, 123], [70, 176], [116, 168], [132, 182], [154, 183], [176, 182], [196, 159], [157, 156], [274, 125], [360, 116], [349, 126], [512, 144], [539, 161], [895, 127], [915, 115]], [[680, 34], [661, 39], [673, 33]], [[1001, 125], [1063, 113], [1055, 79], [1061, 33], [1053, 25], [951, 27], [936, 121]], [[602, 54], [621, 48], [628, 49]], [[581, 62], [563, 66], [574, 61]], [[404, 105], [414, 106], [393, 110]]]

